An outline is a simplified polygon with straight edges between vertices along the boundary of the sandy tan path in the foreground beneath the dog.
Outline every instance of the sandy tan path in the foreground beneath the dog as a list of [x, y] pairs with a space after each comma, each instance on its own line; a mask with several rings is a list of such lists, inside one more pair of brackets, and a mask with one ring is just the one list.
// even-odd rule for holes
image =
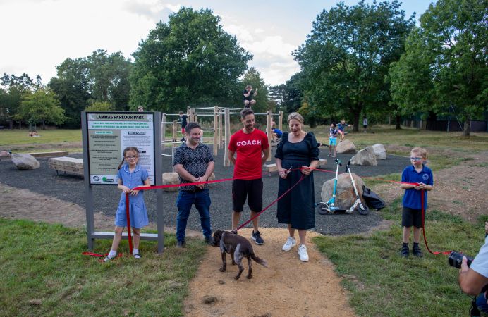
[[[239, 234], [249, 237], [251, 230], [240, 230]], [[307, 242], [310, 261], [305, 263], [298, 259], [297, 247], [281, 251], [288, 230], [260, 231], [265, 243], [253, 244], [253, 248], [257, 256], [269, 263], [269, 268], [253, 262], [252, 279], [248, 280], [245, 263], [243, 275], [234, 280], [237, 266], [232, 266], [227, 256], [227, 271], [221, 273], [220, 249], [209, 247], [190, 283], [190, 297], [185, 301], [187, 316], [355, 316], [334, 266], [310, 241]], [[214, 301], [206, 304], [209, 299]]]

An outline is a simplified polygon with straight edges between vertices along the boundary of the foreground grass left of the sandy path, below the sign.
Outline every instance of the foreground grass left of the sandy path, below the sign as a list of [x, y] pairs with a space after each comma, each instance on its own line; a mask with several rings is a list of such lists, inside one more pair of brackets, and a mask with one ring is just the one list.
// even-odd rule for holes
[[[109, 263], [82, 255], [83, 230], [28, 220], [0, 219], [0, 316], [183, 316], [188, 282], [205, 247], [188, 240], [182, 251], [176, 237], [157, 254], [155, 242], [142, 241], [142, 259], [123, 256]], [[96, 252], [111, 240], [97, 240]]]

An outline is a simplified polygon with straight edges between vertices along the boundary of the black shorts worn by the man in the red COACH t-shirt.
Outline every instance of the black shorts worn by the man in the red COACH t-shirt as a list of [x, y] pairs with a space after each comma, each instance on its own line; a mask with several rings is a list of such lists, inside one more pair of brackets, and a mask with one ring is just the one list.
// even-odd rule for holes
[[237, 213], [243, 211], [246, 198], [252, 211], [262, 211], [262, 178], [232, 181], [232, 210]]

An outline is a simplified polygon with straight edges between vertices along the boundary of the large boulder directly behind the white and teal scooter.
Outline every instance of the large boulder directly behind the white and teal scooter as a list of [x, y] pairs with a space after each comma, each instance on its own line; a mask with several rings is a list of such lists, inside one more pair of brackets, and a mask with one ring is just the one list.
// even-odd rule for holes
[[[364, 199], [362, 199], [362, 185], [365, 183], [358, 175], [355, 175], [355, 173], [352, 173], [352, 175], [356, 183], [356, 188], [358, 189], [359, 197], [361, 201], [364, 202]], [[324, 185], [322, 185], [322, 192], [320, 194], [322, 201], [328, 201], [332, 197], [333, 192], [334, 178], [327, 180], [327, 182], [324, 182]], [[338, 175], [335, 206], [338, 206], [340, 209], [350, 209], [355, 200], [356, 194], [354, 192], [353, 183], [350, 181], [349, 173]]]

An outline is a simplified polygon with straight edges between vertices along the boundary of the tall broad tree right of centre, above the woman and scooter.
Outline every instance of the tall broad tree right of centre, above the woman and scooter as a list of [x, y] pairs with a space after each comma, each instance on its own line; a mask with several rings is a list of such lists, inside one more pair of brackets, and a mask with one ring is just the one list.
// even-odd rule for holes
[[338, 117], [351, 113], [358, 131], [360, 113], [388, 104], [384, 82], [414, 25], [398, 1], [355, 6], [342, 2], [322, 11], [305, 44], [293, 52], [302, 68], [303, 93], [310, 109]]

